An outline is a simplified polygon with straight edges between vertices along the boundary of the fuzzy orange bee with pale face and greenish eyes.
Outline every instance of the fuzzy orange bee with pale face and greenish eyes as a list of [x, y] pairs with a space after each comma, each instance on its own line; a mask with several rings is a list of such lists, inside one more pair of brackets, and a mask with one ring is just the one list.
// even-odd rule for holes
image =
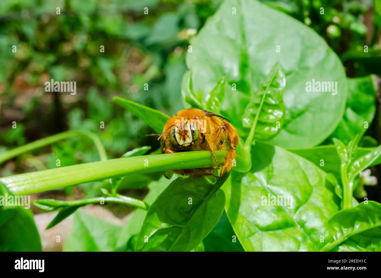
[[[212, 169], [173, 170], [174, 173], [181, 175], [213, 175], [213, 169], [221, 169], [214, 151], [227, 150], [221, 174], [218, 176], [221, 177], [232, 169], [238, 134], [226, 118], [209, 111], [189, 108], [179, 111], [168, 119], [158, 140], [160, 140], [162, 153], [208, 150], [218, 165]], [[164, 173], [164, 175], [168, 178], [168, 174]]]

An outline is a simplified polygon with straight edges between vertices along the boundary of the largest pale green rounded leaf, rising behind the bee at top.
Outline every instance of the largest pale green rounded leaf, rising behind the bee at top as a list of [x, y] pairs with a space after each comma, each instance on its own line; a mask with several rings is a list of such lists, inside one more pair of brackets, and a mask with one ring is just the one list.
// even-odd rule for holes
[[[344, 114], [347, 80], [339, 58], [319, 35], [286, 14], [257, 1], [227, 0], [191, 44], [187, 54], [191, 78], [186, 74], [184, 79], [192, 82], [183, 82], [184, 106], [203, 103], [224, 76], [221, 114], [238, 132], [243, 130], [241, 116], [251, 93], [258, 92], [277, 62], [286, 74], [286, 120], [272, 144], [317, 145]], [[306, 83], [313, 79], [337, 82], [336, 93], [306, 92]], [[193, 95], [188, 95], [187, 84], [192, 85]]]

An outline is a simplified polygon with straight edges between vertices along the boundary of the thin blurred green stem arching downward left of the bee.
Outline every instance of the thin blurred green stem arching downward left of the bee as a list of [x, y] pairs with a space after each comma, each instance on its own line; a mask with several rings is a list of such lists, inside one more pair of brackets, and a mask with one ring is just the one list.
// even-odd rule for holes
[[99, 158], [102, 161], [107, 160], [106, 151], [104, 150], [104, 147], [102, 145], [101, 140], [99, 139], [99, 137], [96, 134], [94, 134], [90, 131], [86, 131], [86, 130], [71, 130], [71, 131], [65, 131], [62, 133], [58, 133], [58, 134], [55, 134], [52, 136], [48, 136], [48, 137], [45, 137], [43, 139], [31, 142], [31, 143], [26, 144], [26, 145], [23, 145], [21, 147], [14, 148], [12, 150], [9, 150], [8, 152], [2, 153], [2, 154], [0, 154], [0, 164], [2, 164], [4, 161], [6, 161], [8, 159], [11, 159], [15, 156], [20, 155], [22, 153], [29, 152], [29, 151], [34, 150], [36, 148], [40, 148], [40, 147], [43, 147], [46, 145], [50, 145], [50, 144], [53, 144], [57, 141], [61, 141], [61, 140], [64, 140], [64, 139], [67, 139], [70, 137], [74, 137], [74, 136], [86, 136], [86, 137], [90, 138], [91, 141], [93, 141], [96, 149], [98, 150]]

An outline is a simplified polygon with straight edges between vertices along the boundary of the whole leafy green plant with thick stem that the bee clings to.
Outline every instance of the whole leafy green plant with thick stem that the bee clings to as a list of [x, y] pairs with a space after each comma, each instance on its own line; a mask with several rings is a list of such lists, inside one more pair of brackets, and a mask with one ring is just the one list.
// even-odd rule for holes
[[[99, 197], [35, 202], [59, 211], [48, 228], [75, 214], [66, 251], [381, 251], [381, 205], [353, 198], [360, 172], [381, 163], [381, 147], [359, 147], [374, 115], [371, 78], [347, 79], [322, 38], [257, 1], [227, 0], [191, 45], [182, 100], [185, 107], [229, 118], [237, 129], [230, 174], [218, 180], [156, 178], [152, 173], [215, 163], [206, 151], [144, 155], [148, 148], [142, 147], [122, 158], [3, 177], [2, 192], [23, 195], [99, 181]], [[314, 80], [337, 82], [335, 92], [306, 92], [306, 82]], [[369, 99], [356, 110], [363, 94]], [[123, 98], [114, 101], [156, 133], [169, 117]], [[98, 144], [94, 134], [88, 136]], [[53, 139], [5, 153], [3, 160]], [[219, 163], [225, 154], [216, 152]], [[142, 188], [142, 177], [149, 177], [144, 200], [118, 193], [125, 180], [129, 188]], [[278, 204], [279, 197], [285, 202]], [[119, 227], [78, 210], [102, 202], [136, 212]], [[23, 228], [33, 232], [23, 238], [22, 229], [9, 231], [10, 218], [25, 219]], [[30, 213], [2, 208], [0, 226], [1, 240], [12, 232], [14, 239], [33, 242], [30, 250], [41, 250]]]

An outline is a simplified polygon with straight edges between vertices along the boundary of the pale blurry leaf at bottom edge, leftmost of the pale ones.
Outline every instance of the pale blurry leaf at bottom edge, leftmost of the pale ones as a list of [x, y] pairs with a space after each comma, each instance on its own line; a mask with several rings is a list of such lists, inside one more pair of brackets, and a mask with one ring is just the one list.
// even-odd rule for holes
[[62, 251], [115, 251], [121, 230], [122, 227], [78, 210]]

